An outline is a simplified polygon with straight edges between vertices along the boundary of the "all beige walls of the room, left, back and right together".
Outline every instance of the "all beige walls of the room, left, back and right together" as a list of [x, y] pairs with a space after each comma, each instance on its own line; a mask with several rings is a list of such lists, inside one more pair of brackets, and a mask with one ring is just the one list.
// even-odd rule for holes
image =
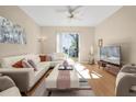
[[[61, 32], [77, 32], [80, 35], [80, 61], [88, 61], [89, 49], [98, 39], [103, 38], [104, 45], [121, 45], [123, 61], [136, 63], [136, 7], [123, 7], [116, 13], [94, 27], [39, 27], [27, 14], [18, 7], [0, 7], [0, 15], [20, 24], [25, 29], [27, 44], [0, 44], [0, 57], [24, 53], [41, 53], [37, 37], [47, 39], [42, 44], [42, 53], [56, 52], [56, 34]], [[95, 36], [94, 36], [95, 34]], [[95, 37], [95, 38], [94, 38]], [[98, 57], [97, 53], [97, 57]]]

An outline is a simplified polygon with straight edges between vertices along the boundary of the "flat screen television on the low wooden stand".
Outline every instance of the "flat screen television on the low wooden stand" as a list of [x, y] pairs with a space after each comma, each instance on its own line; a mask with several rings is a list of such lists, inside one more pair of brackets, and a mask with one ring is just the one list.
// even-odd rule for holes
[[104, 46], [100, 48], [100, 60], [121, 65], [121, 46]]

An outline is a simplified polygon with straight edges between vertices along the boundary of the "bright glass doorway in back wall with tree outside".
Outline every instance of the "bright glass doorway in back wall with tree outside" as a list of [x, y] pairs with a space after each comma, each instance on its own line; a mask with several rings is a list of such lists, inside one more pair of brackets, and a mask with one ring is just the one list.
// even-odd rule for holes
[[65, 53], [75, 61], [79, 59], [79, 34], [60, 33], [57, 35], [57, 52]]

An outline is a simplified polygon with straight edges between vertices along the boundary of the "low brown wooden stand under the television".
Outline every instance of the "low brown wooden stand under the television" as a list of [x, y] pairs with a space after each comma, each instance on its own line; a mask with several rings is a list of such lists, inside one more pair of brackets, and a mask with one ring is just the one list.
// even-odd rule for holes
[[111, 64], [107, 61], [99, 60], [98, 61], [99, 68], [102, 67], [104, 70], [111, 72], [112, 75], [117, 75], [121, 67], [120, 65]]

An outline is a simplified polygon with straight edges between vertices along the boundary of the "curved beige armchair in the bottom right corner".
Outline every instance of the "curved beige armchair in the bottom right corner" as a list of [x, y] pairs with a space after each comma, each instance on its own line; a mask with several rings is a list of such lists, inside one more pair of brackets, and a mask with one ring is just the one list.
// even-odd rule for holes
[[136, 97], [136, 66], [124, 66], [116, 78], [117, 97]]

